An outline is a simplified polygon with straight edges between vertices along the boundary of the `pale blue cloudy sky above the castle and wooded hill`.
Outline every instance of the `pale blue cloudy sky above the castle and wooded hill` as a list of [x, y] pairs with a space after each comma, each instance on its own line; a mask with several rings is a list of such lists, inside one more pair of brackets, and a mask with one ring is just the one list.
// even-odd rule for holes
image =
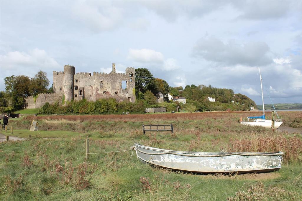
[[169, 86], [302, 103], [302, 1], [0, 0], [0, 90], [34, 77], [148, 68]]

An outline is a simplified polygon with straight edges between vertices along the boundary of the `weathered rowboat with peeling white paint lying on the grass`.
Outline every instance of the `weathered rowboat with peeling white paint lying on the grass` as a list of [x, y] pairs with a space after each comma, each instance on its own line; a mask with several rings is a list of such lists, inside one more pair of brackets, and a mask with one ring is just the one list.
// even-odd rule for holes
[[135, 143], [137, 158], [151, 165], [196, 173], [268, 172], [281, 168], [283, 152], [210, 153], [157, 149]]

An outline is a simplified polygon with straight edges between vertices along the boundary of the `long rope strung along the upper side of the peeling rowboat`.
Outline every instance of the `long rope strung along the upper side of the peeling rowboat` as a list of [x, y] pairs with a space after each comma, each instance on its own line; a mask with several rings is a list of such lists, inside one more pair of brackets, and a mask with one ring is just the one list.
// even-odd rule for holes
[[201, 157], [201, 158], [206, 158], [206, 157], [221, 157], [221, 156], [230, 156], [230, 155], [242, 155], [242, 156], [278, 156], [278, 155], [283, 155], [284, 153], [227, 153], [227, 154], [216, 154], [216, 155], [189, 155], [189, 154], [178, 154], [178, 153], [173, 153], [173, 152], [162, 152], [162, 153], [148, 153], [148, 152], [143, 152], [139, 149], [135, 149], [143, 154], [148, 154], [148, 155], [164, 155], [164, 154], [172, 154], [172, 155], [179, 155], [179, 156], [190, 156], [190, 157]]

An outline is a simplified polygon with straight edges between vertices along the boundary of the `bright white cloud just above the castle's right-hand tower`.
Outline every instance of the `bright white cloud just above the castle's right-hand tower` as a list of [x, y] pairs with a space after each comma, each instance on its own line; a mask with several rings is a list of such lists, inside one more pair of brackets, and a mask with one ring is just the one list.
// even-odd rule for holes
[[128, 58], [139, 63], [162, 63], [164, 55], [152, 49], [129, 49]]

